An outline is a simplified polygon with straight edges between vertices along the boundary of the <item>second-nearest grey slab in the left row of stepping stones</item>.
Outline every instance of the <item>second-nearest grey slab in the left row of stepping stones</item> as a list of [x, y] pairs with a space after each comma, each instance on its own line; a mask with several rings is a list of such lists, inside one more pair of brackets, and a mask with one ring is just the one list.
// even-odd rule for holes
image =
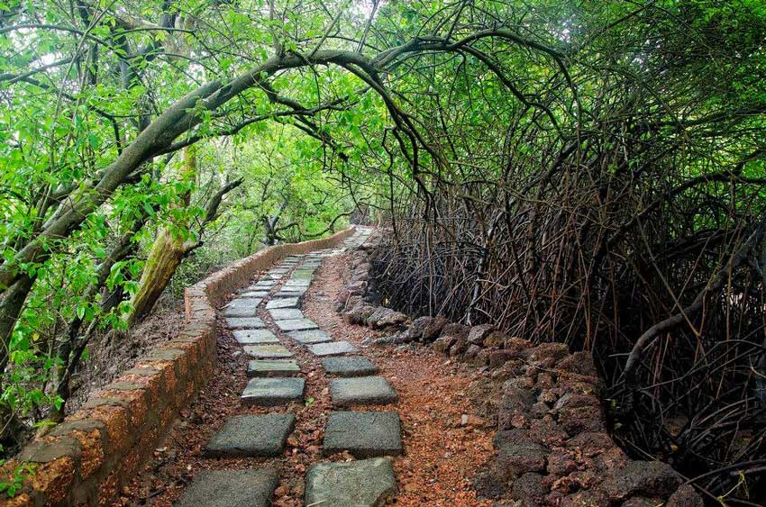
[[293, 413], [237, 415], [223, 423], [203, 452], [207, 457], [279, 456], [295, 427]]

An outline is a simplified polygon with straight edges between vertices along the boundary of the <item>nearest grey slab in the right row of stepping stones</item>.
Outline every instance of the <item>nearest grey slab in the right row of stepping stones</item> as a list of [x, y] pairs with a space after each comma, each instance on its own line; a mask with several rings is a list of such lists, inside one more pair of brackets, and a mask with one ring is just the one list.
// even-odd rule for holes
[[305, 476], [305, 504], [316, 507], [378, 507], [396, 493], [394, 468], [385, 457], [317, 463]]

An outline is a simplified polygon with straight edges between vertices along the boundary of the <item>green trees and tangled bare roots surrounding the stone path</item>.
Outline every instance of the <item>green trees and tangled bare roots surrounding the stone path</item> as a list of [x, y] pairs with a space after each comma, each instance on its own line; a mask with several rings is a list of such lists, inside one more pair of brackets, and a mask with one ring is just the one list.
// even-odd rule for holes
[[391, 305], [592, 350], [624, 448], [746, 504], [764, 44], [761, 0], [0, 2], [5, 454], [169, 285], [355, 220]]

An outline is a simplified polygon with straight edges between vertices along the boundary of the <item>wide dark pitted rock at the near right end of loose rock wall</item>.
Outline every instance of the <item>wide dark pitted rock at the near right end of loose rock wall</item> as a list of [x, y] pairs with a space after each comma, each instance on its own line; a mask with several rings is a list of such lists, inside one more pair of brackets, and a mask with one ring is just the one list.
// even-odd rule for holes
[[636, 494], [667, 498], [679, 487], [679, 476], [667, 463], [630, 461], [621, 470], [606, 475], [602, 484], [612, 501]]

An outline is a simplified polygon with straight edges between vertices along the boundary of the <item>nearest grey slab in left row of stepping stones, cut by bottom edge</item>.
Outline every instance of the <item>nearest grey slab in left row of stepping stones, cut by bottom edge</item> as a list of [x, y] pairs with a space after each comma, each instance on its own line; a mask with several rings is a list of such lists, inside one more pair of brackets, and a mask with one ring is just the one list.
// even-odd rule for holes
[[[259, 470], [201, 470], [181, 495], [176, 507], [269, 507], [277, 489], [278, 472]], [[247, 484], [247, 487], [242, 487]]]

